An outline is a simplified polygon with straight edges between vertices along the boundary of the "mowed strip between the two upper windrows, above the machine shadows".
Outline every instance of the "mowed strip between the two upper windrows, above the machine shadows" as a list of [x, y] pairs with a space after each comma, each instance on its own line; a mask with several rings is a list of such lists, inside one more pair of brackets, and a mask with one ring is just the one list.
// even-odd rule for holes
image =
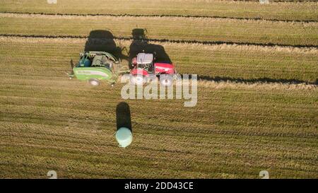
[[141, 28], [146, 37], [160, 40], [318, 45], [318, 23], [1, 13], [0, 25], [2, 34], [88, 36], [92, 30], [107, 30], [115, 37], [131, 37], [132, 30]]

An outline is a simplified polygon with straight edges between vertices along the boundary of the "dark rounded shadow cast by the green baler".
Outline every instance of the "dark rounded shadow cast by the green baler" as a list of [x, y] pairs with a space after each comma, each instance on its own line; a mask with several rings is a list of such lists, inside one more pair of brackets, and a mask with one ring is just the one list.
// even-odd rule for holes
[[109, 52], [117, 59], [122, 59], [122, 48], [114, 42], [114, 35], [109, 30], [92, 30], [85, 43], [85, 52]]

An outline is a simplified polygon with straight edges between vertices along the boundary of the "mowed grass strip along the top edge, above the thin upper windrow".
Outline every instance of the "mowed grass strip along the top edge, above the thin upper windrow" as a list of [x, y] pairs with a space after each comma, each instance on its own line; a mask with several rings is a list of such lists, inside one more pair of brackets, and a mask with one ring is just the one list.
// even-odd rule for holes
[[[0, 11], [28, 13], [131, 14], [262, 18], [318, 21], [317, 2], [259, 4], [259, 1], [71, 0], [47, 4], [42, 0], [1, 1]], [[164, 28], [164, 26], [161, 26]]]

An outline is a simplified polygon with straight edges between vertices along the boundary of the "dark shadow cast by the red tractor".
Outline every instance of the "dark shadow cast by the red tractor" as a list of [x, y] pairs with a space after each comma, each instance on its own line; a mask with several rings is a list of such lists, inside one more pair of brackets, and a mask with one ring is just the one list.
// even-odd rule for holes
[[156, 62], [172, 63], [170, 57], [168, 56], [167, 52], [165, 52], [165, 48], [162, 45], [155, 45], [148, 42], [146, 32], [147, 30], [142, 28], [136, 28], [131, 32], [133, 42], [131, 42], [131, 45], [129, 46], [129, 68], [132, 68], [131, 60], [141, 52], [154, 54]]

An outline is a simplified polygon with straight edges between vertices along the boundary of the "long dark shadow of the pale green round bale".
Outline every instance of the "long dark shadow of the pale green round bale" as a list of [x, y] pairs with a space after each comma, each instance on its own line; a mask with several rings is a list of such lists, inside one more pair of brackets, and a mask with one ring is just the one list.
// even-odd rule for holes
[[116, 107], [116, 123], [117, 130], [121, 127], [126, 127], [132, 133], [130, 107], [127, 103], [118, 103]]

